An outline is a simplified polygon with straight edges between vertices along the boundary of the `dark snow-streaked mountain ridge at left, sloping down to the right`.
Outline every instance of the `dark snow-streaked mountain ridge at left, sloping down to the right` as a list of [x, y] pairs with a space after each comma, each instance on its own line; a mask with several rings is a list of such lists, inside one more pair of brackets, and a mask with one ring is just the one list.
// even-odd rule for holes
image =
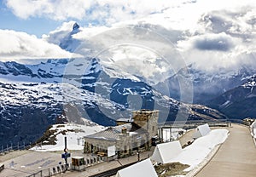
[[47, 60], [37, 65], [2, 62], [0, 66], [0, 144], [37, 140], [63, 111], [69, 122], [83, 123], [85, 117], [105, 126], [114, 125], [119, 117], [131, 117], [131, 111], [138, 109], [160, 110], [160, 122], [225, 118], [206, 106], [183, 104], [160, 94], [125, 71], [115, 75], [100, 59]]

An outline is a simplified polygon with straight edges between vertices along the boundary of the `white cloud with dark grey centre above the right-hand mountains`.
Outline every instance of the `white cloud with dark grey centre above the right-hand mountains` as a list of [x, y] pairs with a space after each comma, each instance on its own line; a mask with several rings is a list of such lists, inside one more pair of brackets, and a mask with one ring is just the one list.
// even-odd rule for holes
[[197, 69], [218, 71], [225, 68], [236, 71], [242, 66], [256, 66], [253, 62], [256, 59], [255, 44], [222, 32], [188, 37], [187, 40], [179, 41], [177, 46], [185, 60]]

